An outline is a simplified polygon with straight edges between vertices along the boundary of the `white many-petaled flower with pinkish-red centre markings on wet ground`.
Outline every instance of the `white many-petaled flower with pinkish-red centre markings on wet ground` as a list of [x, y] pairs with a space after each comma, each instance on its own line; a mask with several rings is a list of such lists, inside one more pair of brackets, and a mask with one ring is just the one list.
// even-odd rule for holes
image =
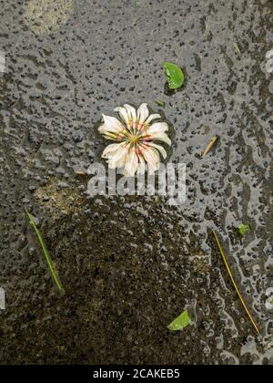
[[159, 114], [149, 114], [147, 104], [142, 104], [139, 109], [124, 105], [115, 109], [120, 118], [103, 115], [104, 123], [98, 129], [107, 140], [116, 143], [108, 145], [102, 157], [109, 164], [110, 169], [124, 168], [124, 175], [134, 177], [136, 171], [144, 174], [146, 163], [150, 174], [159, 169], [160, 154], [167, 158], [167, 151], [155, 141], [171, 145], [167, 136], [166, 122], [155, 122], [160, 119]]

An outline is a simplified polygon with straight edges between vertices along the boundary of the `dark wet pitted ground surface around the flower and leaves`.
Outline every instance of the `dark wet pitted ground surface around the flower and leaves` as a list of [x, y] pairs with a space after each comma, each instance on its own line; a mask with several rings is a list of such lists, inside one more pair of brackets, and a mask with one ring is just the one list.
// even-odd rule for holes
[[[174, 5], [174, 3], [176, 3]], [[273, 2], [0, 1], [3, 363], [273, 364]], [[238, 48], [240, 54], [238, 53]], [[163, 61], [187, 72], [165, 94]], [[271, 91], [271, 93], [270, 93]], [[166, 102], [187, 203], [86, 199], [96, 123]], [[217, 146], [200, 154], [217, 134]], [[25, 220], [38, 218], [59, 295]], [[239, 223], [251, 224], [244, 239]], [[256, 336], [212, 236], [260, 328]], [[271, 289], [271, 290], [270, 290]], [[170, 334], [190, 307], [195, 321]]]

